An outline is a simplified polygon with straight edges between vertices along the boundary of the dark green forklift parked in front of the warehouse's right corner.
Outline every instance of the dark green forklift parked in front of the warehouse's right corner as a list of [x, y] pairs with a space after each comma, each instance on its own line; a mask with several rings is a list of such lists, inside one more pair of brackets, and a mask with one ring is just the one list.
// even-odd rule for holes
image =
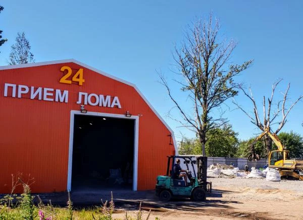
[[[174, 173], [177, 159], [187, 168], [188, 183]], [[192, 167], [193, 175], [189, 166]], [[156, 195], [160, 200], [169, 201], [172, 197], [189, 197], [194, 201], [205, 201], [206, 192], [212, 192], [212, 183], [207, 182], [207, 157], [168, 156], [166, 175], [157, 177]]]

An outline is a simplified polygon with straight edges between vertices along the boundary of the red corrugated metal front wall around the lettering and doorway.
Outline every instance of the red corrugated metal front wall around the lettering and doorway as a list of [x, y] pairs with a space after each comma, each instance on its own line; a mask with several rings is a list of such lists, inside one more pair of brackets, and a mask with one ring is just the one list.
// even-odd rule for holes
[[[64, 76], [60, 71], [64, 65], [70, 66], [73, 74], [83, 68], [83, 86], [59, 83]], [[5, 83], [68, 90], [69, 100], [61, 103], [5, 97]], [[122, 107], [87, 105], [88, 111], [142, 114], [139, 118], [137, 189], [155, 187], [157, 175], [166, 172], [166, 156], [175, 154], [174, 145], [170, 144], [173, 140], [168, 136], [170, 130], [135, 88], [76, 62], [68, 62], [0, 70], [0, 193], [11, 191], [12, 174], [15, 177], [22, 174], [25, 181], [34, 178], [33, 192], [67, 189], [70, 112], [80, 108], [80, 104], [76, 104], [79, 92], [117, 96]]]

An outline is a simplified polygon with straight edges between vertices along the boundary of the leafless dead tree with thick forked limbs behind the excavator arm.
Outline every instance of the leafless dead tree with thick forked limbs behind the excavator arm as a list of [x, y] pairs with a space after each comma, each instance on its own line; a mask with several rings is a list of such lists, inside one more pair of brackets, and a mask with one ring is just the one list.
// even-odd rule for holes
[[[266, 129], [273, 130], [272, 125], [278, 124], [277, 129], [273, 131], [273, 133], [278, 134], [278, 132], [282, 129], [282, 127], [285, 125], [287, 119], [287, 115], [290, 112], [290, 110], [295, 106], [295, 104], [300, 101], [303, 98], [303, 95], [299, 96], [295, 102], [293, 102], [289, 107], [286, 106], [286, 100], [288, 91], [290, 88], [290, 84], [288, 84], [286, 91], [283, 94], [283, 99], [278, 101], [277, 104], [273, 105], [273, 97], [275, 94], [276, 87], [278, 84], [282, 81], [282, 79], [277, 80], [272, 85], [272, 92], [271, 96], [267, 98], [267, 106], [266, 106], [266, 98], [263, 96], [263, 119], [260, 117], [258, 112], [258, 106], [256, 104], [256, 100], [254, 96], [252, 95], [251, 89], [249, 88], [246, 92], [243, 87], [241, 87], [241, 90], [243, 91], [244, 95], [252, 102], [253, 105], [253, 115], [251, 116], [246, 110], [244, 110], [238, 103], [235, 101], [233, 102], [237, 107], [243, 111], [251, 120], [251, 123], [255, 124], [258, 128], [260, 128], [261, 131], [264, 131]], [[266, 109], [267, 108], [267, 109]], [[275, 108], [273, 111], [272, 109]], [[279, 116], [281, 118], [278, 120]], [[262, 121], [261, 121], [262, 119]], [[269, 156], [270, 151], [272, 150], [272, 139], [266, 134], [264, 137], [264, 146], [267, 151], [267, 156]]]

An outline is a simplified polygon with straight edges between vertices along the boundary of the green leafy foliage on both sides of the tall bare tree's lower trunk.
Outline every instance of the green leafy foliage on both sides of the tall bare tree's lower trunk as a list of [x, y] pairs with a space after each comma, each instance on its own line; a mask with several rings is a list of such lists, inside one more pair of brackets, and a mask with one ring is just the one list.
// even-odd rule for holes
[[[207, 133], [206, 155], [208, 157], [234, 157], [237, 153], [238, 133], [227, 124], [214, 128]], [[201, 155], [198, 138], [183, 138], [179, 145], [180, 155]]]

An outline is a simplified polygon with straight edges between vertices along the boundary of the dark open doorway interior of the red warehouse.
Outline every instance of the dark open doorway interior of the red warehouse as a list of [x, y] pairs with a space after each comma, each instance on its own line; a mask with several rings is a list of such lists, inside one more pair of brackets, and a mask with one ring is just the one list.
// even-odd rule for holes
[[72, 190], [132, 188], [134, 120], [75, 115]]

